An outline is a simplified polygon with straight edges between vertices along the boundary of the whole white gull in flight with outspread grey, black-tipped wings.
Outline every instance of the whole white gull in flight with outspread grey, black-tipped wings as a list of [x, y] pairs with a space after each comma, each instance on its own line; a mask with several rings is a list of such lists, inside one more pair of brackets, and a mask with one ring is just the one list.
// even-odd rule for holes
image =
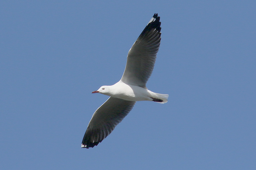
[[161, 41], [160, 17], [155, 14], [128, 52], [124, 74], [112, 86], [101, 86], [92, 93], [110, 96], [92, 115], [82, 141], [82, 148], [93, 148], [105, 139], [132, 110], [136, 101], [166, 103], [168, 94], [146, 88]]

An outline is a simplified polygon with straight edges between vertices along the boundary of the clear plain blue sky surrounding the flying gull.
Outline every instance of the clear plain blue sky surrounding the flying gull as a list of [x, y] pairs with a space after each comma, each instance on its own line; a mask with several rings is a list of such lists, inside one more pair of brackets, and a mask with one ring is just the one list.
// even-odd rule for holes
[[[255, 1], [2, 1], [0, 169], [256, 169]], [[162, 41], [142, 101], [81, 142], [154, 13]]]

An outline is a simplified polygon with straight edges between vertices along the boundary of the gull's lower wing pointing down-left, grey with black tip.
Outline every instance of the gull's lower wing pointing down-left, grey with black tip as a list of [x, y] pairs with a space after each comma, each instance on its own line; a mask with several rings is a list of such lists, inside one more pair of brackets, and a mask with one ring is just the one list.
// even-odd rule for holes
[[82, 141], [82, 148], [97, 146], [132, 110], [136, 102], [110, 97], [92, 115]]

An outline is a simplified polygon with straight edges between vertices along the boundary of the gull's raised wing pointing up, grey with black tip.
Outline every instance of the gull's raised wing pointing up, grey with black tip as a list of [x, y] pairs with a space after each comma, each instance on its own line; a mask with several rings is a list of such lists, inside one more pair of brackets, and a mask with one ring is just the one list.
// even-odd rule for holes
[[121, 80], [126, 84], [146, 88], [154, 69], [161, 40], [160, 17], [155, 14], [128, 52]]

